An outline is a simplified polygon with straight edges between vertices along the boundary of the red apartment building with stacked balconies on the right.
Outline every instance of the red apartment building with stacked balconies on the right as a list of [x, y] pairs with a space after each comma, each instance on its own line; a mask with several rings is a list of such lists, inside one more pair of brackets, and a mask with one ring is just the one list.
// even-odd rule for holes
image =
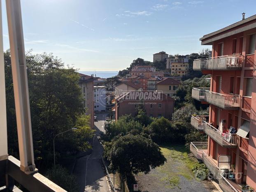
[[256, 189], [256, 15], [200, 41], [212, 45], [212, 58], [194, 60], [193, 69], [211, 74], [211, 84], [193, 88], [192, 97], [209, 104], [209, 117], [192, 116], [191, 125], [208, 142], [192, 142], [190, 150], [224, 192]]

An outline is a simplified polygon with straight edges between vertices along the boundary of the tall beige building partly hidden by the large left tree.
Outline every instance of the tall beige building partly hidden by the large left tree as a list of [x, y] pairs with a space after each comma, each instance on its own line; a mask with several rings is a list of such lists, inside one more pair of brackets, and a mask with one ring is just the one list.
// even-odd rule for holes
[[84, 109], [86, 109], [86, 115], [91, 116], [90, 125], [94, 126], [94, 101], [93, 101], [93, 77], [79, 73], [79, 86], [82, 88], [82, 94], [84, 99]]

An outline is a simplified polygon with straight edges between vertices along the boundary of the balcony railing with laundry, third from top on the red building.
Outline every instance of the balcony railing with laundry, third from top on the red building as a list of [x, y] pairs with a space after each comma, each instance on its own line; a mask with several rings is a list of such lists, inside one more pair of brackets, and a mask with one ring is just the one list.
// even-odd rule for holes
[[237, 134], [223, 133], [207, 122], [204, 122], [204, 131], [219, 145], [228, 148], [235, 148], [237, 146]]

